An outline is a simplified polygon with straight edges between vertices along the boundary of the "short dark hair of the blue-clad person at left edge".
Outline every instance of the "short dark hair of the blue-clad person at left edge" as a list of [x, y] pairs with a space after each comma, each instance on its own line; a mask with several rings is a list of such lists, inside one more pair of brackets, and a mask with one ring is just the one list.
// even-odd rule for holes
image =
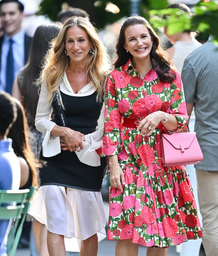
[[5, 136], [17, 118], [17, 108], [12, 96], [0, 92], [0, 135]]

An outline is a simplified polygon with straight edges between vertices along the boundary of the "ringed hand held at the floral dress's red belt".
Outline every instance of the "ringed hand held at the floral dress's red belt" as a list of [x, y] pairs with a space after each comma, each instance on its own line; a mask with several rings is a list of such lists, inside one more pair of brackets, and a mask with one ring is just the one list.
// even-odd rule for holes
[[159, 123], [165, 120], [165, 116], [165, 112], [155, 111], [139, 122], [137, 130], [141, 129], [141, 135], [145, 134], [149, 136], [152, 134], [154, 129], [159, 125]]

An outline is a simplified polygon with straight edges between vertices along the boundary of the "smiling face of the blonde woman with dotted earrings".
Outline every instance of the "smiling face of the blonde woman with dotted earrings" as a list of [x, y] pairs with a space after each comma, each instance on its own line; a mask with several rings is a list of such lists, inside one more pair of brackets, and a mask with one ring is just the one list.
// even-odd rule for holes
[[93, 47], [87, 33], [79, 26], [70, 27], [65, 35], [65, 48], [73, 62], [86, 62], [89, 50]]

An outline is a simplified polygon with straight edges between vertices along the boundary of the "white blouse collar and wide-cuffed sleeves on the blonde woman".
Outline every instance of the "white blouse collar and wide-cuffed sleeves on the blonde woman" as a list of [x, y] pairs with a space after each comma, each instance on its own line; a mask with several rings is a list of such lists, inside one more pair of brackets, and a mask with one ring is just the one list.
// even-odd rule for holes
[[[60, 91], [76, 96], [88, 96], [91, 95], [95, 89], [90, 83], [84, 86], [78, 93], [74, 93], [72, 87], [69, 84], [66, 73], [64, 73], [63, 80], [60, 84]], [[51, 121], [52, 105], [46, 103], [48, 99], [48, 91], [45, 81], [43, 81], [39, 96], [39, 101], [36, 110], [36, 129], [41, 131], [45, 135], [45, 139], [42, 144], [43, 156], [50, 157], [59, 154], [60, 149], [60, 137], [50, 136], [50, 131], [56, 125], [55, 122]], [[99, 166], [100, 158], [95, 152], [95, 149], [102, 146], [103, 128], [104, 126], [104, 104], [102, 106], [101, 115], [98, 119], [98, 130], [85, 135], [85, 142], [83, 141], [84, 149], [80, 152], [75, 152], [81, 162], [91, 166]]]

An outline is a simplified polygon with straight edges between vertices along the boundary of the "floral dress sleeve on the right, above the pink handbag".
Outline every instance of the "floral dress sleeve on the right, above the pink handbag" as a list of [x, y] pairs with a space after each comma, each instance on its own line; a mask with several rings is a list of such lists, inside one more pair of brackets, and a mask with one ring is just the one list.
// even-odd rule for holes
[[183, 130], [185, 124], [188, 123], [188, 116], [185, 104], [184, 91], [182, 87], [182, 80], [178, 72], [176, 72], [176, 78], [170, 86], [170, 111], [169, 114], [173, 115], [177, 119], [177, 129], [170, 131], [165, 127], [162, 129], [167, 134]]

